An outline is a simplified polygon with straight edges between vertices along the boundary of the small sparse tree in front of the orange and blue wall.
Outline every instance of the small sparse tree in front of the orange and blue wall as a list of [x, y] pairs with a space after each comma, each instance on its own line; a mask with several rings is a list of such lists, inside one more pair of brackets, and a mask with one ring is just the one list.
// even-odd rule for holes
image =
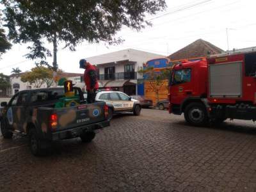
[[148, 81], [151, 91], [156, 93], [157, 102], [159, 102], [159, 90], [164, 87], [171, 71], [167, 68], [156, 71], [154, 67], [147, 67], [138, 72], [143, 74], [145, 81]]

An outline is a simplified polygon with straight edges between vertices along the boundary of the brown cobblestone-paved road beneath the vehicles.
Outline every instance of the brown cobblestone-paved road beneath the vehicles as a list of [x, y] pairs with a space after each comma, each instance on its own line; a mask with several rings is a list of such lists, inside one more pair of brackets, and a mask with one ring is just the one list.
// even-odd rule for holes
[[0, 191], [255, 191], [255, 157], [253, 123], [191, 127], [145, 109], [46, 157], [33, 157], [26, 138], [0, 138]]

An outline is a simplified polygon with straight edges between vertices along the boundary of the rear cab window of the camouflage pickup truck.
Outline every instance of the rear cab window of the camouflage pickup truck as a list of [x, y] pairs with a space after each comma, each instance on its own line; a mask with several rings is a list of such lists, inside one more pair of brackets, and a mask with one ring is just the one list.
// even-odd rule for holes
[[61, 97], [64, 97], [64, 90], [38, 91], [32, 93], [31, 102], [45, 102], [57, 100]]

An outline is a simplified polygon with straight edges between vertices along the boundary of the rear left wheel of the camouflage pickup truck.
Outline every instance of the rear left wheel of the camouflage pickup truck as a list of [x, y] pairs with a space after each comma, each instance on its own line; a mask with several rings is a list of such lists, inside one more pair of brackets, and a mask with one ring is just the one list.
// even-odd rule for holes
[[31, 153], [34, 156], [42, 155], [41, 142], [38, 136], [36, 136], [35, 129], [31, 129], [29, 132], [29, 147], [30, 147]]

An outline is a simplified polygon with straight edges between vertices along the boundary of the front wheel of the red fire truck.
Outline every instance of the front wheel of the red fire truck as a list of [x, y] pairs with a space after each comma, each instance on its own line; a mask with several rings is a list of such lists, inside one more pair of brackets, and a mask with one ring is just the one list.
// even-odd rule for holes
[[184, 116], [191, 125], [202, 126], [208, 122], [205, 106], [199, 102], [192, 102], [186, 106]]

